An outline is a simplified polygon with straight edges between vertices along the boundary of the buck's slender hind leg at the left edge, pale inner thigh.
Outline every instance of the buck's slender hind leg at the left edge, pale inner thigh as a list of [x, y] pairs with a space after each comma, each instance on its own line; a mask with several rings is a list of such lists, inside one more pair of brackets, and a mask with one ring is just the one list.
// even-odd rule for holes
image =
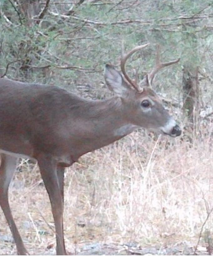
[[10, 205], [8, 201], [8, 187], [11, 182], [13, 173], [16, 169], [16, 159], [13, 156], [1, 154], [0, 165], [0, 205], [12, 232], [17, 247], [18, 255], [29, 255], [24, 247], [22, 238], [18, 232], [16, 224], [13, 220]]

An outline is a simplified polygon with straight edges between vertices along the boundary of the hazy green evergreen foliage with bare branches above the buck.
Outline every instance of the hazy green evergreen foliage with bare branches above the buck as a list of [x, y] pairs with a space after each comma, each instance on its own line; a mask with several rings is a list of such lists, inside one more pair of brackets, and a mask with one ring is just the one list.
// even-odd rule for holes
[[[66, 14], [71, 4], [65, 2], [54, 5], [52, 1], [49, 10]], [[14, 62], [9, 65], [8, 77], [56, 83], [66, 88], [69, 81], [70, 89], [75, 89], [76, 83], [90, 83], [101, 90], [104, 64], [118, 65], [123, 41], [126, 51], [141, 43], [151, 43], [128, 61], [130, 74], [132, 68], [140, 68], [143, 77], [151, 69], [156, 44], [161, 45], [163, 60], [181, 57], [182, 65], [191, 63], [211, 73], [204, 58], [205, 49], [212, 53], [211, 1], [115, 0], [109, 3], [84, 1], [74, 6], [69, 16], [46, 13], [40, 24], [31, 19], [29, 25], [18, 5], [14, 4], [17, 8], [14, 10], [8, 1], [1, 1], [0, 72], [4, 73], [7, 64]], [[158, 75], [158, 81], [157, 86], [163, 84], [161, 89], [177, 93], [177, 87], [172, 88], [170, 84], [171, 81], [180, 83], [181, 65], [165, 69], [162, 78]]]

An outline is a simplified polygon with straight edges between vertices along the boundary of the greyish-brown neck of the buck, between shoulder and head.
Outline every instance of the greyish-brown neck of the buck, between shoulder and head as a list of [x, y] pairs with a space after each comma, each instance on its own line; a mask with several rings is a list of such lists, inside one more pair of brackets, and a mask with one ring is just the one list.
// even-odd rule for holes
[[104, 101], [87, 101], [78, 111], [84, 113], [82, 120], [79, 112], [78, 118], [75, 118], [74, 147], [78, 151], [78, 156], [106, 146], [136, 128], [128, 120], [129, 115], [124, 109], [121, 98], [118, 97]]

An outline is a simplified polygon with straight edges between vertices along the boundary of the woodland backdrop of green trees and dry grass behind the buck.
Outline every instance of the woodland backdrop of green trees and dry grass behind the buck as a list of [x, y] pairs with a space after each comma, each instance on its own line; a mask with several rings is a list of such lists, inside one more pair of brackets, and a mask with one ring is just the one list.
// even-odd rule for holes
[[[161, 60], [181, 58], [156, 76], [154, 88], [183, 134], [136, 130], [88, 153], [65, 181], [67, 248], [88, 243], [128, 248], [202, 246], [213, 239], [213, 2], [201, 0], [1, 0], [0, 76], [57, 85], [84, 98], [111, 97], [106, 63], [119, 69], [121, 45], [150, 46], [126, 65], [142, 79]], [[24, 113], [23, 113], [24, 115]], [[10, 203], [27, 248], [47, 253], [54, 226], [37, 165], [20, 159]], [[45, 210], [44, 210], [45, 209]], [[16, 252], [0, 214], [0, 254]]]

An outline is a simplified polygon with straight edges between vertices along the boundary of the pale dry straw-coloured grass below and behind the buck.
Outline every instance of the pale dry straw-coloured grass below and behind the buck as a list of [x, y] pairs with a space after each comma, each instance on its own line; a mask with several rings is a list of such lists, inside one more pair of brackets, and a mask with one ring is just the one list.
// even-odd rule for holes
[[[22, 163], [23, 171], [14, 176], [11, 208], [30, 253], [43, 253], [55, 245], [54, 225], [39, 171], [27, 164]], [[212, 169], [208, 135], [189, 143], [185, 138], [150, 138], [135, 132], [88, 153], [66, 172], [68, 250], [91, 241], [195, 244], [213, 207]], [[213, 228], [211, 218], [205, 225], [208, 230]], [[0, 234], [10, 236], [2, 212], [0, 223]], [[14, 244], [0, 240], [3, 253], [16, 254]]]

